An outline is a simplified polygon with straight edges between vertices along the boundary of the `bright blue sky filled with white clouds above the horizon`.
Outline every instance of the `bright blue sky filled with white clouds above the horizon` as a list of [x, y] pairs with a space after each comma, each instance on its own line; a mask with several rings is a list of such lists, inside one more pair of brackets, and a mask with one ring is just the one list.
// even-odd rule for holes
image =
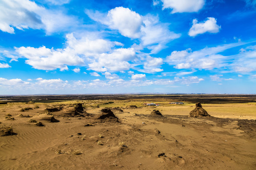
[[0, 0], [0, 94], [256, 93], [255, 0]]

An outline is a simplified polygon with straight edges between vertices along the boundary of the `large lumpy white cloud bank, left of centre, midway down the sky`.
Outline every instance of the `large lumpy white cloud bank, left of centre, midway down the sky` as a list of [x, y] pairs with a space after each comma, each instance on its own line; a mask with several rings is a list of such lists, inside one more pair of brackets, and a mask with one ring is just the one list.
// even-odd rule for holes
[[[45, 46], [39, 48], [19, 47], [16, 48], [16, 52], [25, 57], [26, 63], [33, 68], [43, 70], [59, 68], [62, 71], [68, 70], [67, 66], [83, 66], [86, 61], [91, 62], [90, 68], [95, 71], [107, 71], [107, 66], [110, 70], [111, 68], [118, 70], [119, 65], [123, 65], [120, 70], [127, 69], [130, 67], [128, 63], [130, 58], [127, 58], [127, 55], [135, 56], [133, 49], [121, 48], [113, 51], [114, 46], [122, 45], [119, 42], [110, 42], [101, 38], [91, 40], [81, 37], [78, 39], [73, 34], [67, 34], [66, 39], [66, 48], [63, 49], [49, 49]], [[119, 62], [115, 62], [116, 58]], [[109, 63], [110, 61], [112, 63]]]

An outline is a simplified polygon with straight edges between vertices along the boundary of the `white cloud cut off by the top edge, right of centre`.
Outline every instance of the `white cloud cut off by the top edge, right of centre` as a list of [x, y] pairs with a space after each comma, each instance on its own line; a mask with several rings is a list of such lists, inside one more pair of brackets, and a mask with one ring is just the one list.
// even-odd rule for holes
[[172, 14], [177, 12], [197, 12], [203, 5], [204, 0], [161, 0], [163, 9], [172, 8]]

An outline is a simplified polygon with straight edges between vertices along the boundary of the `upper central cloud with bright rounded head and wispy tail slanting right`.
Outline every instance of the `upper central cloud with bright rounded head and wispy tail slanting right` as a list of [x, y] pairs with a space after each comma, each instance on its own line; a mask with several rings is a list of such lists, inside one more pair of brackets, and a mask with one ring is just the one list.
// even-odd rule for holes
[[168, 24], [161, 23], [157, 16], [141, 16], [129, 8], [113, 8], [107, 15], [91, 10], [85, 12], [91, 19], [118, 30], [123, 36], [139, 39], [143, 48], [152, 50], [152, 53], [162, 50], [167, 42], [181, 36], [171, 32]]

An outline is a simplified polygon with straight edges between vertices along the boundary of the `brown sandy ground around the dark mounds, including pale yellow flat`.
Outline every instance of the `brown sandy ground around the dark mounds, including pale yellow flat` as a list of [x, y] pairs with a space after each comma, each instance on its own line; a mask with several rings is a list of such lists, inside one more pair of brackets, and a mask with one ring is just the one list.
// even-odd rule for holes
[[[194, 104], [125, 109], [136, 102], [121, 101], [115, 106], [123, 112], [112, 110], [117, 121], [94, 118], [102, 108], [114, 106], [96, 107], [101, 102], [84, 102], [82, 116], [70, 112], [75, 101], [0, 105], [0, 127], [12, 127], [16, 133], [0, 136], [0, 169], [256, 169], [255, 103], [202, 104], [212, 117], [188, 118]], [[46, 108], [59, 111], [49, 113]], [[154, 109], [163, 116], [150, 116]], [[42, 120], [52, 116], [58, 122]]]

